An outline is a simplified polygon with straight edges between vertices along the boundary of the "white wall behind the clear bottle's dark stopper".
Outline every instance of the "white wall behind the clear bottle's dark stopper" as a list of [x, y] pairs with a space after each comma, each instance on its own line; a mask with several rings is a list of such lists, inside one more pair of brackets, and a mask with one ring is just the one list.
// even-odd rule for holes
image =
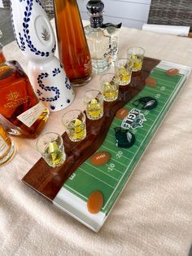
[[[82, 20], [89, 20], [86, 4], [88, 0], [77, 0]], [[142, 29], [149, 15], [151, 0], [103, 0], [104, 23], [123, 23], [123, 26]]]

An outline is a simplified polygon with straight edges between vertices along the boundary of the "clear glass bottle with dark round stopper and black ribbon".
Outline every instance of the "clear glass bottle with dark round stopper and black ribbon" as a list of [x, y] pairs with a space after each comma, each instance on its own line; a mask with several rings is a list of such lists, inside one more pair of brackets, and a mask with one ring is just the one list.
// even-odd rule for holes
[[103, 24], [104, 4], [100, 0], [89, 1], [86, 8], [89, 11], [90, 24], [84, 29], [93, 72], [103, 73], [117, 59], [118, 31], [121, 24]]

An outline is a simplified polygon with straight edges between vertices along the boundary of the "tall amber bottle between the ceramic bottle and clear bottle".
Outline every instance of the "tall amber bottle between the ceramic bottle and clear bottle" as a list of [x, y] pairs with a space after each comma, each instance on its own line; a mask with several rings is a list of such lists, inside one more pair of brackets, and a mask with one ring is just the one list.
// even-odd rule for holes
[[91, 58], [76, 0], [55, 0], [59, 59], [73, 86], [91, 79]]

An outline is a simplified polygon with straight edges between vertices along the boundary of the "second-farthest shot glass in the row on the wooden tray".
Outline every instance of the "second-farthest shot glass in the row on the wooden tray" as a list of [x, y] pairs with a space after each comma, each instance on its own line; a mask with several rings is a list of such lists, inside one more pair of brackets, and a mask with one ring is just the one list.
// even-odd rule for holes
[[131, 81], [133, 61], [123, 58], [116, 60], [115, 71], [120, 78], [120, 86], [127, 86]]

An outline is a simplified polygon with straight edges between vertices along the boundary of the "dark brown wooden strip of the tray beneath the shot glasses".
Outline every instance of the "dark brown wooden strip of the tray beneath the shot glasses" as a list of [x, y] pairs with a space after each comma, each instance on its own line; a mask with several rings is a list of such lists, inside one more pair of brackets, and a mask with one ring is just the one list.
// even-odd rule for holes
[[86, 119], [87, 136], [83, 141], [73, 143], [66, 133], [62, 135], [67, 155], [63, 166], [53, 169], [41, 158], [22, 181], [52, 201], [63, 183], [103, 144], [117, 110], [124, 107], [143, 89], [146, 77], [157, 64], [159, 60], [144, 58], [142, 71], [133, 73], [129, 86], [120, 86], [118, 99], [115, 102], [104, 103], [104, 116], [98, 121]]

